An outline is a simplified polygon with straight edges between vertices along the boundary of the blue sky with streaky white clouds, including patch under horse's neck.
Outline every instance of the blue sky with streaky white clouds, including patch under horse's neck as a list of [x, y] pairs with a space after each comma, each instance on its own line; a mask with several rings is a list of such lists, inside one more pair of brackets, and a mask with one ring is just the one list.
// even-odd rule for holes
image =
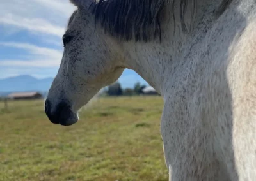
[[[61, 37], [76, 9], [68, 0], [8, 0], [0, 6], [0, 78], [31, 75], [54, 77], [61, 62]], [[125, 69], [122, 87], [148, 84]]]

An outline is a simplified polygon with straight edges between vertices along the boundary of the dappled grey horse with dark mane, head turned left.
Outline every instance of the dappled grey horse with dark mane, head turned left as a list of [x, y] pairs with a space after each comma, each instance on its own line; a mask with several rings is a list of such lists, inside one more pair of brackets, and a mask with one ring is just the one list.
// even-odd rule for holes
[[76, 123], [102, 87], [133, 69], [163, 96], [170, 179], [256, 179], [255, 0], [71, 2], [45, 101], [52, 123]]

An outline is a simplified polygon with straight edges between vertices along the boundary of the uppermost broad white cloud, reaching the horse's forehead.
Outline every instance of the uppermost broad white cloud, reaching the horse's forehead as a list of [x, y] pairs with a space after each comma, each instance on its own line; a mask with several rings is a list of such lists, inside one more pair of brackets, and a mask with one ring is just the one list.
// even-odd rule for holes
[[0, 25], [62, 36], [75, 7], [68, 0], [8, 0], [1, 2]]

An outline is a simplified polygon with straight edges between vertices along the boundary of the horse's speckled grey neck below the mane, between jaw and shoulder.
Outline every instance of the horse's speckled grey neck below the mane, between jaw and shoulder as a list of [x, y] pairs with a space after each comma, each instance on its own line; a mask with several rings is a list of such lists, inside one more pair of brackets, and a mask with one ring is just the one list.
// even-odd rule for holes
[[[181, 0], [176, 3], [179, 4], [179, 1]], [[124, 66], [136, 71], [163, 96], [166, 87], [172, 86], [169, 85], [172, 83], [170, 78], [174, 75], [175, 70], [177, 71], [182, 66], [181, 57], [184, 57], [184, 52], [188, 50], [197, 36], [204, 36], [205, 27], [214, 22], [216, 17], [214, 17], [213, 12], [220, 6], [221, 2], [222, 0], [198, 0], [194, 28], [188, 34], [182, 32], [181, 24], [177, 18], [174, 23], [173, 12], [171, 12], [162, 24], [161, 43], [159, 41], [125, 43]], [[189, 6], [191, 4], [188, 5], [188, 10], [191, 9]], [[175, 17], [179, 17], [178, 11], [174, 13]], [[185, 21], [189, 22], [189, 17], [185, 18], [187, 18]], [[174, 24], [176, 28], [173, 33]]]

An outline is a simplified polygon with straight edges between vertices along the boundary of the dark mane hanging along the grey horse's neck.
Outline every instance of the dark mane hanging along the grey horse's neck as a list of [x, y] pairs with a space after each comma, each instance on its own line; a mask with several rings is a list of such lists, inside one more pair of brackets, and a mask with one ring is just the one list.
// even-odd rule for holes
[[[95, 24], [100, 23], [105, 32], [126, 41], [149, 41], [158, 37], [161, 41], [161, 21], [163, 10], [170, 0], [95, 0], [91, 4], [92, 13], [95, 15]], [[223, 13], [232, 0], [223, 0], [216, 11]], [[172, 0], [173, 8], [175, 0]], [[182, 30], [188, 32], [184, 15], [188, 3], [194, 4], [196, 0], [180, 1], [180, 21]], [[174, 16], [173, 16], [174, 18]]]

